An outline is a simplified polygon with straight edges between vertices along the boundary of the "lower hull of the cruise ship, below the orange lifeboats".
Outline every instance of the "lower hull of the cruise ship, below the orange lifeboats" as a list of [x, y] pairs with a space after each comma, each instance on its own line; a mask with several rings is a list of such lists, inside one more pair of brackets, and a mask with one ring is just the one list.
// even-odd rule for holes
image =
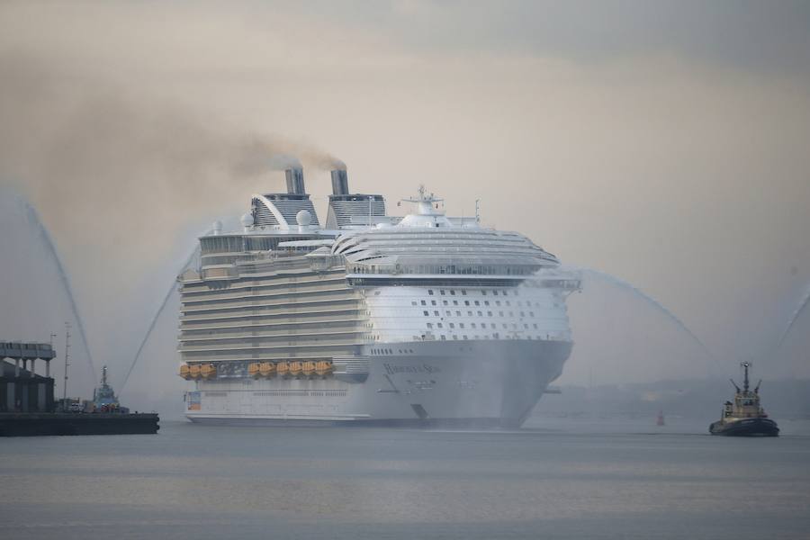
[[571, 347], [569, 341], [542, 340], [364, 346], [353, 373], [201, 381], [187, 403], [198, 410], [186, 416], [254, 425], [517, 428], [561, 374]]

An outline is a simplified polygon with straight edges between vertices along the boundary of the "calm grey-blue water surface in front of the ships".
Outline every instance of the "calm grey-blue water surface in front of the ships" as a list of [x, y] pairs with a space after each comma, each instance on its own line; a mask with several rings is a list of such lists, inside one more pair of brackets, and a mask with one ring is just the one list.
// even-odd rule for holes
[[228, 428], [0, 439], [0, 538], [810, 538], [810, 428]]

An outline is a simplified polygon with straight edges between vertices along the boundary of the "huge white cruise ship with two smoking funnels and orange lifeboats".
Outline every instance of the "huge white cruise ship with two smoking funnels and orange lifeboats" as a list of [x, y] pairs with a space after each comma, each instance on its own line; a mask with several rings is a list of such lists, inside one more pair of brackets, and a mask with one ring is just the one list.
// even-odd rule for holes
[[424, 187], [388, 216], [331, 172], [321, 225], [302, 170], [215, 223], [178, 276], [194, 422], [518, 428], [572, 350], [580, 276], [517, 232], [450, 218]]

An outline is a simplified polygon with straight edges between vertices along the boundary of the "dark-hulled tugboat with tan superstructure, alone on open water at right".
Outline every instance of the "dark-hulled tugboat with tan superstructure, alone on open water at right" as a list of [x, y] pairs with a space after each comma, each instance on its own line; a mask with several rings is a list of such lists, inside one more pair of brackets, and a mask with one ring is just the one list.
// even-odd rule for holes
[[751, 364], [741, 364], [745, 372], [743, 390], [734, 384], [734, 403], [726, 401], [723, 407], [723, 416], [709, 426], [712, 435], [725, 435], [728, 437], [779, 437], [779, 426], [768, 418], [760, 405], [760, 380], [753, 391], [749, 390], [748, 368]]

